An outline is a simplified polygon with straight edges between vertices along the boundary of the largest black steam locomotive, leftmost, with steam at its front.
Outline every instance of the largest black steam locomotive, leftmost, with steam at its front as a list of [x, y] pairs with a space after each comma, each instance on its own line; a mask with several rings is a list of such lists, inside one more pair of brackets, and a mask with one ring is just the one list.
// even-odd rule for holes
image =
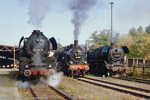
[[[21, 47], [22, 42], [23, 46]], [[54, 37], [48, 39], [39, 30], [34, 30], [28, 38], [20, 39], [19, 48], [21, 49], [18, 53], [18, 79], [24, 81], [55, 73], [57, 59], [51, 52], [57, 49]]]

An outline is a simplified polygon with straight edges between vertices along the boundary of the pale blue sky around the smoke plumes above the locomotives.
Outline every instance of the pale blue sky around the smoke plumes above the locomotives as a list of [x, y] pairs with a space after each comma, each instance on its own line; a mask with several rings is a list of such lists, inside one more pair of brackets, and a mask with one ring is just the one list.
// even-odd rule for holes
[[[28, 37], [36, 27], [31, 23], [29, 2], [32, 0], [0, 0], [0, 45], [18, 45], [22, 36]], [[37, 0], [38, 1], [38, 0]], [[71, 0], [50, 0], [39, 30], [48, 38], [65, 46], [74, 42], [73, 11], [68, 7]], [[147, 27], [150, 24], [150, 0], [97, 0], [87, 11], [87, 19], [80, 27], [79, 44], [94, 31], [111, 28], [111, 7], [113, 4], [113, 31], [127, 34], [132, 27]], [[32, 5], [30, 5], [32, 6]], [[47, 10], [47, 9], [46, 9]]]

